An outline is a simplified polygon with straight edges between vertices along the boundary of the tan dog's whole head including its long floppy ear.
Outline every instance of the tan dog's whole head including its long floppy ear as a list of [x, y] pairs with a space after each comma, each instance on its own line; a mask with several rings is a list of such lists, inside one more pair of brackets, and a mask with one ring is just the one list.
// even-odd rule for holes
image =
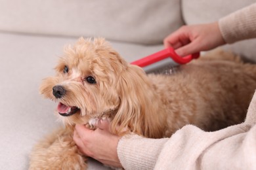
[[[58, 102], [58, 117], [64, 124], [87, 124], [91, 118], [111, 118], [115, 133], [127, 129], [148, 137], [158, 118], [152, 84], [140, 67], [130, 65], [104, 39], [79, 39], [65, 49], [55, 68], [56, 76], [45, 78], [40, 92]], [[116, 127], [119, 127], [118, 129]]]

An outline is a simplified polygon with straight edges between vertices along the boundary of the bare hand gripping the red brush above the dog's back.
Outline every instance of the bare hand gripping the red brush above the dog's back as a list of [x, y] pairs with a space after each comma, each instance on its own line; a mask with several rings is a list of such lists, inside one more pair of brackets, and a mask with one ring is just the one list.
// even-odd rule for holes
[[221, 35], [218, 22], [200, 25], [185, 25], [168, 35], [163, 44], [173, 47], [180, 56], [211, 50], [226, 44]]

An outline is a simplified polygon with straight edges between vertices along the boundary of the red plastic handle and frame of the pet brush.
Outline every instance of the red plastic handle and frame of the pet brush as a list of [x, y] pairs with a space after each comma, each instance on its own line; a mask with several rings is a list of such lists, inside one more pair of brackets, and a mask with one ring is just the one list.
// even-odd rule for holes
[[147, 56], [145, 58], [139, 59], [137, 61], [133, 61], [131, 64], [138, 65], [140, 67], [145, 67], [147, 65], [156, 63], [168, 57], [173, 59], [173, 61], [175, 61], [176, 63], [185, 64], [191, 61], [192, 59], [199, 58], [199, 56], [200, 56], [200, 53], [198, 52], [195, 54], [190, 54], [185, 57], [181, 57], [175, 52], [173, 48], [169, 47], [164, 50], [161, 50], [160, 52], [156, 52], [155, 54], [151, 54], [150, 56]]

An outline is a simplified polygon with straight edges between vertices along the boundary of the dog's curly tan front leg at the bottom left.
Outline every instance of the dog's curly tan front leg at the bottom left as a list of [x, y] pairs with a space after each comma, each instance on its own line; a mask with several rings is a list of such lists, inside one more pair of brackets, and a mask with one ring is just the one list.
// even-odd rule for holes
[[86, 169], [85, 158], [77, 151], [73, 130], [62, 128], [37, 144], [30, 156], [30, 169]]

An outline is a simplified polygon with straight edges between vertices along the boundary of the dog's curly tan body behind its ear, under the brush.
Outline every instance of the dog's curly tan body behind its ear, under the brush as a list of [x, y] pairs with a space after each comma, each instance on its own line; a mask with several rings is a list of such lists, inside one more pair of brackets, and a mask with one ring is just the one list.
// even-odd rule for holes
[[186, 124], [214, 131], [244, 121], [256, 89], [256, 65], [217, 51], [182, 65], [173, 75], [149, 78], [158, 80], [152, 82], [164, 101], [166, 136]]

